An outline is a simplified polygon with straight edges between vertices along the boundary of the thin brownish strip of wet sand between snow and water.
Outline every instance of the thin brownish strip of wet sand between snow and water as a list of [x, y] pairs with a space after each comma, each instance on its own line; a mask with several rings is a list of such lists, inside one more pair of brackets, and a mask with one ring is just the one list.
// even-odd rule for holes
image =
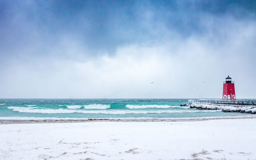
[[177, 119], [149, 119], [149, 120], [122, 120], [122, 119], [88, 119], [88, 120], [0, 120], [0, 125], [4, 124], [37, 124], [37, 123], [84, 123], [84, 122], [196, 122], [209, 120], [228, 119], [256, 119], [251, 117], [221, 117], [221, 118], [177, 118]]

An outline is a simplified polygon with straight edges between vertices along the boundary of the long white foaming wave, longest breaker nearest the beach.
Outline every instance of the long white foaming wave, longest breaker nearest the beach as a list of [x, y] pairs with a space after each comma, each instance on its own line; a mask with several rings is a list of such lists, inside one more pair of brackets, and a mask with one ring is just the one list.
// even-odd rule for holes
[[125, 114], [147, 114], [147, 113], [194, 113], [194, 112], [217, 112], [221, 110], [75, 110], [75, 109], [36, 109], [35, 107], [8, 107], [13, 111], [22, 113], [87, 113], [87, 114], [106, 114], [106, 115], [125, 115]]

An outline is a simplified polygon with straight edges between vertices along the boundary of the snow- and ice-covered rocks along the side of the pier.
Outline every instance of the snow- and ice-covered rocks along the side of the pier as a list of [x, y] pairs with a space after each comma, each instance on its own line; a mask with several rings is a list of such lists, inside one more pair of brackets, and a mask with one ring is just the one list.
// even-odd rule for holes
[[185, 104], [190, 108], [197, 109], [209, 109], [209, 110], [221, 110], [223, 112], [240, 112], [240, 113], [256, 113], [255, 106], [243, 106], [243, 105], [227, 105], [227, 104], [205, 104], [205, 103], [194, 103], [188, 102]]

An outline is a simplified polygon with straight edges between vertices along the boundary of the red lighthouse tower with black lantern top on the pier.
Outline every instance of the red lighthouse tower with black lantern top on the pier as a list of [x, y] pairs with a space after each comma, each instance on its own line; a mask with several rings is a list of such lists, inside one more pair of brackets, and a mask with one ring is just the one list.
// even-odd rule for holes
[[223, 100], [236, 101], [236, 94], [234, 93], [234, 81], [227, 76], [226, 81], [223, 82]]

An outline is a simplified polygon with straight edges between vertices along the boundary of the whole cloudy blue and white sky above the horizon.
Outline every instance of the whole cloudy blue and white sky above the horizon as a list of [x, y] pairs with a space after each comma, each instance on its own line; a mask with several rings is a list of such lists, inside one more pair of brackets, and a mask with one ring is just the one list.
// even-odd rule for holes
[[256, 98], [255, 73], [256, 1], [0, 1], [0, 98]]

